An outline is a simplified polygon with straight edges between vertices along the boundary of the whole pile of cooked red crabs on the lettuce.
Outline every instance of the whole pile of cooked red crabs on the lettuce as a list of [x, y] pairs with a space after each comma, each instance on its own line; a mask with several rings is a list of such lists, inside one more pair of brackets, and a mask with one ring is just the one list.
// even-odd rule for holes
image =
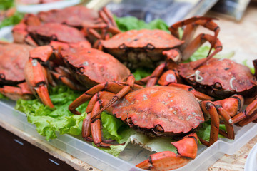
[[[66, 108], [71, 115], [81, 115], [78, 108], [88, 103], [86, 118], [81, 115], [84, 140], [105, 149], [125, 144], [104, 138], [105, 112], [149, 138], [173, 138], [177, 153], [156, 152], [136, 167], [183, 167], [196, 158], [199, 142], [209, 147], [218, 135], [233, 140], [234, 125], [257, 120], [257, 74], [230, 59], [214, 58], [223, 46], [213, 20], [195, 16], [178, 21], [167, 27], [170, 33], [121, 32], [105, 7], [26, 14], [12, 30], [14, 43], [0, 42], [0, 93], [12, 100], [36, 97], [54, 110], [49, 85], [65, 84], [84, 92]], [[194, 36], [197, 26], [213, 35]], [[205, 42], [211, 45], [206, 58], [184, 63]], [[257, 60], [253, 66], [256, 71]], [[136, 80], [132, 73], [138, 68], [151, 73]], [[197, 135], [206, 121], [209, 140]]]

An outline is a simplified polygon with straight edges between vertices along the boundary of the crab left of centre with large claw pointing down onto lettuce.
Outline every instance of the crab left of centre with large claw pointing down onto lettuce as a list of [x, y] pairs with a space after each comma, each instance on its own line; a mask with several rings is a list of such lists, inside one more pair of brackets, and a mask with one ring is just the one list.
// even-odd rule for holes
[[[74, 90], [86, 90], [105, 81], [123, 81], [130, 73], [116, 58], [94, 48], [75, 47], [58, 42], [52, 42], [51, 46], [34, 48], [30, 51], [30, 58], [24, 69], [26, 82], [34, 94], [51, 108], [54, 105], [47, 90], [48, 81], [51, 81], [49, 71], [46, 71], [47, 61], [57, 64], [54, 71], [50, 71], [54, 78]], [[69, 71], [59, 66], [69, 68]]]

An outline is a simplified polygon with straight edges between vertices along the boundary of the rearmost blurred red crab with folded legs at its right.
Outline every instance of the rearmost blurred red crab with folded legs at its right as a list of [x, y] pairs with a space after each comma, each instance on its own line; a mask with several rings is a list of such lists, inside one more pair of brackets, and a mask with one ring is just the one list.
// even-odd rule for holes
[[[56, 26], [49, 27], [49, 23], [54, 23]], [[78, 30], [83, 28], [84, 31], [81, 31], [80, 34], [83, 34], [88, 38], [96, 37], [105, 39], [108, 37], [108, 33], [120, 33], [119, 29], [116, 28], [116, 23], [108, 9], [103, 8], [97, 12], [94, 9], [86, 8], [85, 6], [71, 6], [66, 9], [40, 12], [36, 15], [26, 14], [19, 25], [14, 27], [14, 41], [16, 41], [16, 32], [18, 32], [20, 36], [21, 34], [23, 36], [28, 35], [26, 32], [29, 32], [29, 35], [31, 32], [36, 32], [36, 29], [29, 28], [31, 26], [40, 26], [38, 28], [40, 28], [41, 31], [44, 28], [49, 27], [49, 30], [52, 30], [54, 38], [59, 30], [62, 31], [63, 29], [66, 29], [65, 32], [70, 32], [70, 27], [77, 28]], [[66, 25], [66, 28], [61, 25]], [[22, 32], [21, 28], [23, 30]], [[101, 30], [101, 34], [96, 30]], [[37, 33], [39, 32], [40, 31], [37, 31]], [[59, 33], [59, 38], [66, 36], [64, 33]], [[69, 34], [69, 38], [73, 37], [76, 37], [76, 35], [71, 36], [71, 34]], [[29, 37], [25, 38], [29, 39]]]

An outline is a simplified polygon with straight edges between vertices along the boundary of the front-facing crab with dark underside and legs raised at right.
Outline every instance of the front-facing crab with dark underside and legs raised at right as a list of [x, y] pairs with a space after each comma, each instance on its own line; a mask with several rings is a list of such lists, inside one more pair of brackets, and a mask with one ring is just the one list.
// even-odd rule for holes
[[[170, 26], [171, 34], [162, 30], [131, 30], [119, 33], [108, 40], [98, 41], [95, 46], [99, 49], [111, 53], [126, 66], [131, 69], [139, 67], [156, 68], [165, 56], [170, 56], [171, 49], [181, 51], [182, 59], [188, 59], [193, 51], [201, 46], [203, 41], [211, 41], [212, 46], [216, 42], [219, 27], [214, 23], [213, 18], [196, 16], [191, 19], [179, 21]], [[186, 25], [182, 40], [179, 40], [178, 28]], [[197, 36], [191, 41], [194, 28], [202, 25], [215, 32], [212, 40], [208, 40], [203, 34]], [[179, 50], [178, 50], [179, 49]], [[216, 49], [218, 51], [219, 49]], [[163, 52], [164, 51], [164, 52]], [[216, 51], [214, 53], [216, 53]], [[213, 54], [210, 55], [213, 56]], [[180, 61], [181, 58], [174, 58], [174, 61]]]

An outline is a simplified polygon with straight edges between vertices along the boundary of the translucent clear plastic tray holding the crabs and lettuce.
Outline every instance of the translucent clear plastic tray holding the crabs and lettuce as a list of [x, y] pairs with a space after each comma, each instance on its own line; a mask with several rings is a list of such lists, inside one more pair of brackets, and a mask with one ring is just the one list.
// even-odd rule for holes
[[[14, 105], [14, 101], [1, 100], [0, 119], [36, 138], [44, 140], [44, 137], [36, 132], [36, 127], [27, 122], [26, 115], [14, 110]], [[208, 148], [199, 145], [196, 159], [191, 160], [188, 165], [176, 171], [206, 170], [224, 154], [233, 155], [257, 134], [257, 124], [255, 123], [250, 123], [242, 128], [236, 126], [234, 128], [236, 131], [235, 140], [221, 138]], [[48, 143], [100, 170], [141, 170], [135, 165], [151, 153], [137, 145], [129, 145], [124, 152], [121, 152], [119, 157], [114, 157], [93, 147], [91, 143], [81, 140], [81, 136], [74, 137], [71, 135], [58, 135], [58, 138], [50, 140]]]

